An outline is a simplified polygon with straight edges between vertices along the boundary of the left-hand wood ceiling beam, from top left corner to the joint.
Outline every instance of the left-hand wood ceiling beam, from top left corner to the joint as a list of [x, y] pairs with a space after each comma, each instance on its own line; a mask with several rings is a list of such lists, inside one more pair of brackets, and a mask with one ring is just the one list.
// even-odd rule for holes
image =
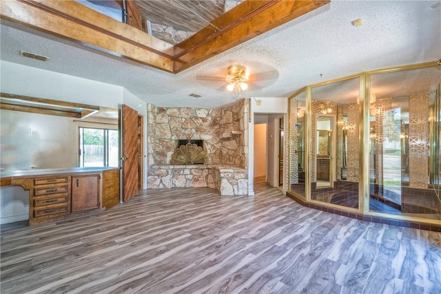
[[1, 18], [173, 72], [173, 46], [76, 1], [2, 0]]

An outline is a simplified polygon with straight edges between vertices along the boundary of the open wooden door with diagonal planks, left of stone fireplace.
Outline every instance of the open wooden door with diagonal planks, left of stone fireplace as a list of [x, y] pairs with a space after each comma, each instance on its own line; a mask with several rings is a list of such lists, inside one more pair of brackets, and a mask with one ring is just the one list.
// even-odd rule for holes
[[138, 112], [123, 105], [123, 202], [138, 194]]

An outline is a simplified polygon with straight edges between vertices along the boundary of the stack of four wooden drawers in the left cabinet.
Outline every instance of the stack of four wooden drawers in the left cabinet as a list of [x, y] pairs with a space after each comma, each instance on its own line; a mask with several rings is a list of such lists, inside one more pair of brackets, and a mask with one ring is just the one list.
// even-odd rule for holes
[[69, 213], [70, 176], [35, 178], [30, 193], [30, 222]]

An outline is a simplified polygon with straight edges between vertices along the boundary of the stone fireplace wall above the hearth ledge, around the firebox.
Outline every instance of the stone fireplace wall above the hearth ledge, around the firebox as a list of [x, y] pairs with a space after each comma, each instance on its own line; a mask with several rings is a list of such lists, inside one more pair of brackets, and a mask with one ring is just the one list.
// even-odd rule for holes
[[148, 105], [148, 165], [169, 165], [176, 140], [204, 140], [208, 165], [245, 167], [244, 103], [223, 109]]

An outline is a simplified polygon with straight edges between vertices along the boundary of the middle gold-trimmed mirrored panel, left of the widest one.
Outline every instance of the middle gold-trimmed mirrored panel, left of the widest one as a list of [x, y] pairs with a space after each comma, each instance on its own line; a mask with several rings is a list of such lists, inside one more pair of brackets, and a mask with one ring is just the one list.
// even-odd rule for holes
[[311, 200], [358, 209], [360, 78], [312, 88]]

